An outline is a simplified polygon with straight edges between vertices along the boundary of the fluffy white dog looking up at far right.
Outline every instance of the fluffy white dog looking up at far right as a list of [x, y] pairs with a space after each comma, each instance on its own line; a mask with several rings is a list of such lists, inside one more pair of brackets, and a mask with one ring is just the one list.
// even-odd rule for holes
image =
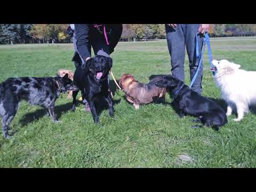
[[227, 60], [213, 60], [214, 79], [221, 87], [222, 98], [228, 104], [227, 116], [237, 111], [234, 121], [241, 121], [249, 106], [256, 103], [256, 71], [239, 69], [241, 66]]

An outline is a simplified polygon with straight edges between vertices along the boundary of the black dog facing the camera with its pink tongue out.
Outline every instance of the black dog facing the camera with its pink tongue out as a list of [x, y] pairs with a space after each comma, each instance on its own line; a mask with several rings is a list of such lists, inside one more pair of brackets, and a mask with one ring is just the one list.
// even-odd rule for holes
[[[73, 61], [81, 63], [81, 59], [76, 57]], [[94, 101], [103, 98], [108, 103], [109, 115], [114, 116], [113, 101], [108, 86], [108, 74], [112, 67], [112, 59], [102, 55], [96, 55], [94, 58], [87, 60], [84, 65], [79, 65], [74, 74], [74, 85], [82, 93], [82, 99], [89, 103], [94, 123], [99, 123], [99, 115], [95, 108]], [[76, 108], [76, 96], [79, 91], [73, 92], [73, 108]]]

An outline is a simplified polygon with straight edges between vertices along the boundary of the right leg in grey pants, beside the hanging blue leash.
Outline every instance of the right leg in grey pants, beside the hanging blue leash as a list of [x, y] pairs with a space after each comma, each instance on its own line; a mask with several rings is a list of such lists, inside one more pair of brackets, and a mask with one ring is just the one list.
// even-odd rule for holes
[[[198, 33], [199, 26], [200, 24], [186, 24], [186, 28], [187, 28], [186, 47], [187, 47], [188, 59], [189, 59], [190, 81], [192, 81], [199, 64], [199, 58], [196, 58], [196, 35]], [[197, 39], [198, 39], [199, 54], [201, 54], [204, 38], [202, 35], [198, 35]], [[203, 78], [203, 63], [201, 68], [199, 69], [195, 83], [191, 87], [192, 90], [196, 91], [199, 94], [202, 93], [202, 78]]]

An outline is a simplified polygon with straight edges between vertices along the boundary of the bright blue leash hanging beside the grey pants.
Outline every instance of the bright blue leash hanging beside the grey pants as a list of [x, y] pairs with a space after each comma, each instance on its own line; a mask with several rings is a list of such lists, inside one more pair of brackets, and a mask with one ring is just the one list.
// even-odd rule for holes
[[[207, 33], [205, 33], [205, 36], [204, 36], [204, 43], [203, 43], [201, 55], [199, 55], [199, 47], [198, 47], [198, 39], [197, 39], [198, 37], [197, 37], [197, 36], [198, 36], [198, 34], [196, 34], [196, 57], [197, 57], [197, 58], [200, 58], [200, 59], [199, 59], [198, 67], [197, 67], [197, 69], [196, 69], [196, 73], [195, 73], [195, 75], [194, 75], [194, 77], [193, 77], [193, 79], [192, 79], [192, 81], [191, 81], [191, 83], [190, 83], [190, 85], [189, 85], [189, 88], [190, 88], [190, 89], [191, 89], [191, 87], [193, 86], [193, 84], [195, 83], [196, 77], [197, 77], [197, 75], [198, 75], [198, 73], [199, 73], [199, 70], [200, 70], [200, 68], [201, 68], [201, 66], [202, 66], [203, 57], [204, 57], [204, 48], [205, 48], [205, 44], [207, 44], [207, 47], [208, 47], [209, 63], [210, 63], [210, 65], [211, 65], [212, 68], [214, 67], [213, 64], [212, 64], [212, 51], [211, 51], [211, 45], [210, 45], [210, 37], [209, 37], [209, 35], [208, 35]], [[214, 71], [213, 71], [212, 73], [213, 73], [213, 75], [215, 75], [215, 72], [214, 72]]]

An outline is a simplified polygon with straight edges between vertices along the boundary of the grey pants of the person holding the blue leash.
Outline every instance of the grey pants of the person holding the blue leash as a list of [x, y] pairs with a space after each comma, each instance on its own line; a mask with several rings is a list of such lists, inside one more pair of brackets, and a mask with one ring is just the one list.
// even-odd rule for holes
[[[178, 24], [176, 28], [165, 25], [166, 39], [168, 49], [171, 55], [172, 74], [180, 81], [185, 81], [184, 61], [185, 61], [185, 48], [187, 49], [189, 68], [190, 68], [190, 81], [193, 79], [199, 58], [196, 58], [196, 34], [198, 33], [200, 24]], [[203, 36], [199, 35], [198, 47], [201, 53], [203, 46]], [[192, 90], [197, 93], [202, 93], [202, 78], [203, 78], [203, 65], [199, 69], [197, 78]]]

